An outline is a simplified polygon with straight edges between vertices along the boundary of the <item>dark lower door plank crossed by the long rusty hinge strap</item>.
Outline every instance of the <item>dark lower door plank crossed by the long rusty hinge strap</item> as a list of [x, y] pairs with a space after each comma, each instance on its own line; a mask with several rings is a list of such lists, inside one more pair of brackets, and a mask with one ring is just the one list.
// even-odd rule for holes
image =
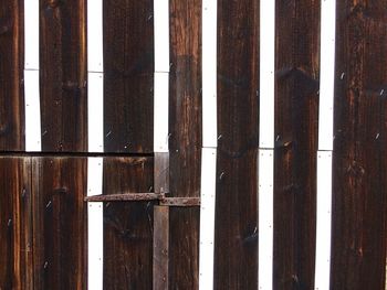
[[[153, 158], [105, 158], [104, 194], [148, 191], [153, 170]], [[154, 204], [104, 204], [104, 289], [151, 289]]]

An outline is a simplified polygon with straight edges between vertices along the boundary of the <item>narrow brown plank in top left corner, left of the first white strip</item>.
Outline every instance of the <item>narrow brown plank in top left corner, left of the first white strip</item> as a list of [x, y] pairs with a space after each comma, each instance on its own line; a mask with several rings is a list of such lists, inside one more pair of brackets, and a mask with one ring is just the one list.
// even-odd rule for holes
[[0, 3], [0, 150], [24, 149], [23, 6]]

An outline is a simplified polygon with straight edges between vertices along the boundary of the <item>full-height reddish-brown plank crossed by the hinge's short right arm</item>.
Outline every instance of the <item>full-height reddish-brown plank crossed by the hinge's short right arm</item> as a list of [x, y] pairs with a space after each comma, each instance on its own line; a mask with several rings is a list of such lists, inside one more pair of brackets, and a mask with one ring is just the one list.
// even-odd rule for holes
[[[169, 192], [176, 197], [200, 195], [201, 2], [169, 1]], [[169, 221], [169, 284], [198, 289], [199, 207], [171, 207]]]

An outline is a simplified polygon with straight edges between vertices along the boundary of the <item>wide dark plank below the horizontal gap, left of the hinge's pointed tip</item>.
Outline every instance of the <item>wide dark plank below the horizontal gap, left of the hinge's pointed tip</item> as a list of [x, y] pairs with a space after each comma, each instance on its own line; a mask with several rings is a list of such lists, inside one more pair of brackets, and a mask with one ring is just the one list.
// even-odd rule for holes
[[85, 289], [87, 159], [32, 163], [34, 289]]

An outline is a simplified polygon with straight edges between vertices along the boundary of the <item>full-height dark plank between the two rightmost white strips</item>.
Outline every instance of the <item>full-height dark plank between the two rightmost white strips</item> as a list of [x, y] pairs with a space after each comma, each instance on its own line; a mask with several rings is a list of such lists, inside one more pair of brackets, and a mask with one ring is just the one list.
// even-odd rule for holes
[[320, 0], [276, 3], [274, 289], [313, 289]]

